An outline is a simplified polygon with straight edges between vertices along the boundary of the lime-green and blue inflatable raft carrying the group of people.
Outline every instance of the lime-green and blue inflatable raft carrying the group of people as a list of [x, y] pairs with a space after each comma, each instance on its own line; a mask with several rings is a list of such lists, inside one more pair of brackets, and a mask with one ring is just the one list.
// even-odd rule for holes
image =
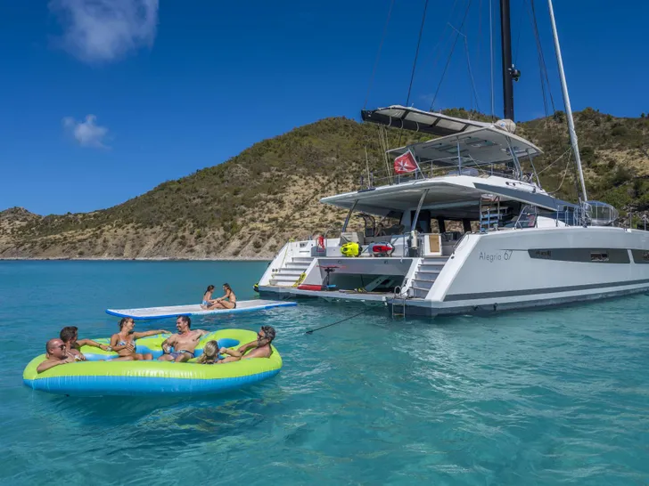
[[[270, 358], [254, 358], [225, 364], [199, 364], [203, 346], [217, 340], [219, 347], [235, 348], [257, 339], [244, 329], [223, 329], [201, 338], [196, 358], [185, 363], [156, 360], [161, 344], [169, 335], [143, 337], [136, 341], [137, 352], [151, 352], [152, 361], [115, 361], [115, 352], [83, 346], [86, 361], [78, 361], [37, 373], [45, 354], [29, 361], [22, 378], [34, 390], [75, 396], [103, 395], [203, 395], [222, 393], [254, 385], [275, 377], [282, 369], [282, 357], [272, 346]], [[106, 339], [95, 341], [107, 344]]]

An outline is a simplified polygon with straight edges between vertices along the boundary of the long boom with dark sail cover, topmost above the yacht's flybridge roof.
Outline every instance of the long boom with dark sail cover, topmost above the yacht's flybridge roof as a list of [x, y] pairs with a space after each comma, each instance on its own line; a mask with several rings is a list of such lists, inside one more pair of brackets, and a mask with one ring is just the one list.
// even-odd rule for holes
[[363, 121], [366, 122], [441, 136], [459, 134], [469, 128], [492, 126], [490, 123], [448, 117], [441, 113], [407, 108], [400, 105], [392, 105], [388, 108], [364, 109], [360, 114]]

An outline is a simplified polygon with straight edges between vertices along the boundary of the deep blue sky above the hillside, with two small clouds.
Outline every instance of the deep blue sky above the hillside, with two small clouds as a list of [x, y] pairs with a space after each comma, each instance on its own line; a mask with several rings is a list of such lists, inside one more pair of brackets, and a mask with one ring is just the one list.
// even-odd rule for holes
[[[469, 0], [430, 1], [410, 104], [429, 109]], [[516, 119], [543, 116], [530, 0], [512, 1]], [[424, 0], [396, 0], [367, 107], [404, 104]], [[495, 56], [499, 27], [494, 0]], [[649, 2], [555, 0], [573, 109], [649, 112]], [[489, 1], [462, 33], [490, 112]], [[452, 9], [452, 7], [455, 7]], [[563, 109], [544, 0], [538, 28]], [[0, 210], [111, 207], [366, 100], [390, 0], [0, 0]], [[502, 113], [495, 67], [496, 113]], [[435, 109], [472, 103], [459, 36]]]

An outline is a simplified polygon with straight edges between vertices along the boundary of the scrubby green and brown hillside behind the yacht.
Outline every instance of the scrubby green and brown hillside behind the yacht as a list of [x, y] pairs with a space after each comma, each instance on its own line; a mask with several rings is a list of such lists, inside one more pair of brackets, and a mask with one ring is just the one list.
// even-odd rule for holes
[[[649, 118], [585, 109], [575, 123], [589, 198], [624, 212], [649, 209]], [[388, 132], [390, 147], [425, 139]], [[560, 158], [570, 148], [563, 113], [519, 123], [517, 134], [545, 151], [535, 160], [544, 188], [575, 200], [574, 168], [566, 173]], [[0, 258], [269, 258], [287, 239], [341, 222], [318, 200], [358, 188], [366, 149], [374, 177], [386, 176], [376, 126], [326, 118], [116, 207], [45, 217], [11, 208], [0, 212]]]

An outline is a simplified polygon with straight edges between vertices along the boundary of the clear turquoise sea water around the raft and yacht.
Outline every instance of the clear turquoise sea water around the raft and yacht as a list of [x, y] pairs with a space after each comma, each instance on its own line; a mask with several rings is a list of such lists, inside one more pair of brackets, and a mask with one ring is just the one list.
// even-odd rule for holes
[[[66, 398], [22, 369], [106, 307], [240, 299], [267, 263], [0, 262], [0, 483], [645, 484], [649, 296], [494, 318], [392, 321], [300, 303], [193, 320], [275, 326], [284, 367], [201, 400]], [[173, 320], [138, 322], [139, 329]]]

